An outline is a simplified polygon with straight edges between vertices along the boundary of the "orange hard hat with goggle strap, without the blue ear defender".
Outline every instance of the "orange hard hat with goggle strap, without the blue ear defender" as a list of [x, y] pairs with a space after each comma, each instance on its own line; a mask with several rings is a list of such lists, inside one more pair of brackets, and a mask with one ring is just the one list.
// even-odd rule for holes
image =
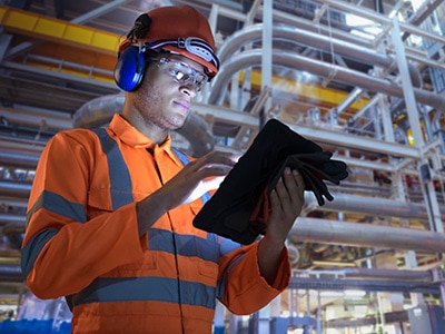
[[211, 78], [218, 72], [215, 39], [208, 20], [190, 6], [167, 6], [139, 16], [119, 55], [130, 46], [167, 50], [197, 61]]

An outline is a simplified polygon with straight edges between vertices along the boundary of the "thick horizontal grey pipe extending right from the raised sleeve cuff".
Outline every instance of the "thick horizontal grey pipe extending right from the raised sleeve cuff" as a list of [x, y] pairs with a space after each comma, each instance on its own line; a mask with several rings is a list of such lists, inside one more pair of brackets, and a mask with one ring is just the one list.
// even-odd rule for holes
[[445, 253], [443, 233], [309, 217], [297, 218], [288, 237], [294, 243]]

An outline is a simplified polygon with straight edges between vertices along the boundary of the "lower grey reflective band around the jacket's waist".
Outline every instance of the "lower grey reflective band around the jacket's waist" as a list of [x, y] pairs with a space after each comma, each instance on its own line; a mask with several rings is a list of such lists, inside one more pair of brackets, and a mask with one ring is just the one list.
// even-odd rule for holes
[[[180, 281], [181, 303], [215, 308], [215, 288]], [[178, 281], [166, 277], [97, 278], [75, 297], [75, 305], [103, 302], [151, 301], [179, 304]]]

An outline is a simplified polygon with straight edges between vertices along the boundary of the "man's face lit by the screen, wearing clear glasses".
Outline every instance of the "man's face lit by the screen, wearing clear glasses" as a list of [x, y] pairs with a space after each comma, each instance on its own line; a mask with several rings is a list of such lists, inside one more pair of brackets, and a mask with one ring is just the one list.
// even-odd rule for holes
[[[204, 68], [198, 62], [179, 55], [162, 55], [150, 61], [141, 86], [131, 94], [134, 107], [146, 125], [176, 130], [186, 120], [199, 89], [195, 84], [206, 79], [202, 76]], [[188, 81], [182, 82], [184, 79]]]

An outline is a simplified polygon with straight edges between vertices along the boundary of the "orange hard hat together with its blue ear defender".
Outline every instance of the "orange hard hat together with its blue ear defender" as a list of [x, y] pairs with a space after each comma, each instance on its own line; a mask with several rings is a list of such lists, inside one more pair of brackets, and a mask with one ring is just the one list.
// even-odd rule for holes
[[136, 90], [142, 81], [147, 52], [168, 51], [205, 68], [211, 79], [218, 72], [215, 40], [207, 19], [189, 6], [160, 7], [141, 14], [119, 47], [115, 69], [118, 86]]

